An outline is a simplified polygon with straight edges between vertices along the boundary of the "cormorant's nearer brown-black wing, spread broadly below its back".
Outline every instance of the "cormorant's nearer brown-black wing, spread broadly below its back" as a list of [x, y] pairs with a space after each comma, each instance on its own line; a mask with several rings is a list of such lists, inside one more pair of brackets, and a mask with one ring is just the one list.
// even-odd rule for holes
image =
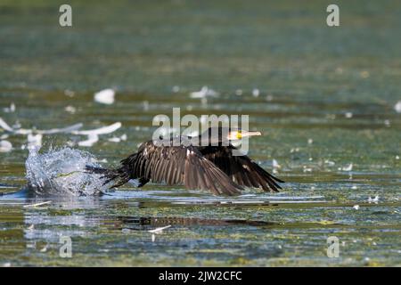
[[236, 195], [242, 190], [193, 146], [156, 146], [145, 142], [138, 152], [121, 163], [121, 169], [125, 169], [130, 178], [168, 185], [184, 184], [187, 189], [201, 189], [217, 195]]

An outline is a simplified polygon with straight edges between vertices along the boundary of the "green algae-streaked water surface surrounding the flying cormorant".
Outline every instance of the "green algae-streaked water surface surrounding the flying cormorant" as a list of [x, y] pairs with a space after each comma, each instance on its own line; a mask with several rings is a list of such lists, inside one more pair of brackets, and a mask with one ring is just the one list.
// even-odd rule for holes
[[[248, 114], [264, 134], [251, 140], [250, 157], [268, 171], [276, 159], [286, 183], [278, 194], [247, 190], [226, 203], [155, 184], [102, 198], [4, 196], [0, 265], [401, 265], [399, 1], [337, 1], [337, 28], [325, 22], [330, 1], [70, 1], [70, 28], [58, 24], [61, 4], [0, 3], [4, 121], [37, 129], [119, 121], [117, 132], [80, 148], [116, 165], [173, 107]], [[221, 95], [191, 99], [203, 85]], [[116, 102], [94, 102], [109, 87]], [[15, 112], [4, 111], [12, 102]], [[127, 141], [108, 141], [122, 134]], [[4, 140], [13, 149], [0, 152], [0, 191], [18, 191], [27, 136]], [[79, 140], [43, 138], [45, 149]], [[71, 258], [59, 255], [61, 236], [72, 240]], [[330, 236], [340, 240], [337, 258], [327, 256]]]

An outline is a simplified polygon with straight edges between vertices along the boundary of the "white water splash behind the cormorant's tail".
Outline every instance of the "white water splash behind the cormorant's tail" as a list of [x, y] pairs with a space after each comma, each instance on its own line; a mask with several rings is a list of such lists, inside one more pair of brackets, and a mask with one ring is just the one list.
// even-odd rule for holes
[[68, 147], [39, 153], [38, 148], [29, 149], [25, 163], [30, 191], [39, 195], [91, 196], [108, 191], [102, 175], [86, 173], [86, 165], [100, 167], [96, 159], [86, 151]]

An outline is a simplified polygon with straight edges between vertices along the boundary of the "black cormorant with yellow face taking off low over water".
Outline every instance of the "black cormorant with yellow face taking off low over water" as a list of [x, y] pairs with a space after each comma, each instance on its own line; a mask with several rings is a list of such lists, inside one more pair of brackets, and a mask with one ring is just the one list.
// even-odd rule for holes
[[[226, 127], [210, 127], [199, 136], [180, 135], [160, 141], [143, 142], [139, 150], [121, 160], [116, 169], [87, 166], [92, 173], [102, 174], [111, 187], [137, 179], [138, 187], [149, 181], [184, 184], [187, 189], [211, 191], [216, 195], [238, 195], [246, 187], [278, 191], [284, 183], [266, 172], [248, 156], [234, 156], [238, 151], [231, 142], [246, 136], [261, 135]], [[197, 143], [194, 143], [197, 142]]]

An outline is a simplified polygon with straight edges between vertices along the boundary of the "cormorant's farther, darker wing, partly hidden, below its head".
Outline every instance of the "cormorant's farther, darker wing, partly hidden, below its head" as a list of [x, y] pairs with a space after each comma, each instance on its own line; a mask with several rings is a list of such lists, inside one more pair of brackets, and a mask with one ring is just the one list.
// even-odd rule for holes
[[230, 176], [233, 182], [247, 187], [262, 187], [264, 191], [276, 191], [282, 187], [278, 183], [284, 183], [281, 179], [269, 174], [259, 167], [248, 156], [233, 156], [233, 145], [208, 146], [201, 149], [202, 155], [209, 159]]

